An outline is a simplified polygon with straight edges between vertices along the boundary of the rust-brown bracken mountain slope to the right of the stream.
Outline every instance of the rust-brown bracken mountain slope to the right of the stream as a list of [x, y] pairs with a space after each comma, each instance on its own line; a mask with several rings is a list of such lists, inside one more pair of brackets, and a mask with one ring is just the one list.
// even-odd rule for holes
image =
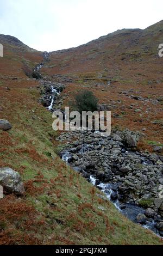
[[[122, 29], [85, 45], [51, 52], [42, 74], [67, 83], [62, 107], [88, 88], [112, 113], [119, 129], [143, 130], [140, 149], [163, 143], [163, 21], [146, 29]], [[58, 76], [60, 74], [61, 76]], [[139, 109], [139, 111], [137, 111]]]

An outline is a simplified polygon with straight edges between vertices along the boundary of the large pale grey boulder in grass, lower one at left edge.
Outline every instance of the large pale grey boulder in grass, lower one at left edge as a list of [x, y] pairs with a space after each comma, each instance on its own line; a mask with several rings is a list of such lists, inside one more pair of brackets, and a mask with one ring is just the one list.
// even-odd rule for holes
[[0, 185], [7, 192], [15, 193], [18, 196], [24, 193], [24, 186], [20, 174], [9, 167], [0, 168]]

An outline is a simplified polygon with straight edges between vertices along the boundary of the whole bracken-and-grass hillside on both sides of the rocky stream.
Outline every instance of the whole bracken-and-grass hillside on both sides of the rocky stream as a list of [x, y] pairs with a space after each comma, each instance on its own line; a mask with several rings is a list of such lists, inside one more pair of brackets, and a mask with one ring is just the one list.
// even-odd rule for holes
[[[43, 62], [43, 53], [0, 35], [0, 118], [12, 124], [11, 130], [0, 131], [0, 167], [20, 173], [26, 191], [22, 197], [6, 194], [0, 199], [0, 245], [162, 245], [60, 159], [52, 113], [38, 101], [45, 81], [64, 83], [61, 107], [74, 91], [89, 88], [111, 108], [113, 126], [146, 127], [139, 147], [152, 150], [151, 142], [158, 145], [163, 138], [163, 58], [155, 48], [160, 41], [162, 21], [144, 31], [124, 29], [52, 52], [40, 81], [27, 77], [24, 65], [34, 69]], [[141, 114], [134, 112], [138, 107]]]

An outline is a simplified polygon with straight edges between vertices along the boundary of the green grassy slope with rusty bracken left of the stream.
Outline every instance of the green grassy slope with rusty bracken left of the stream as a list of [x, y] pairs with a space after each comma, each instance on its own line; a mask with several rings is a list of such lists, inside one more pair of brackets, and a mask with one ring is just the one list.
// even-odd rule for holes
[[[29, 61], [38, 57], [26, 54]], [[0, 244], [161, 245], [55, 154], [52, 114], [37, 102], [38, 83], [24, 77], [20, 62], [11, 68], [12, 58], [8, 52], [0, 59], [0, 118], [13, 125], [0, 132], [0, 166], [21, 174], [26, 194], [0, 200]], [[13, 75], [22, 78], [13, 81]]]

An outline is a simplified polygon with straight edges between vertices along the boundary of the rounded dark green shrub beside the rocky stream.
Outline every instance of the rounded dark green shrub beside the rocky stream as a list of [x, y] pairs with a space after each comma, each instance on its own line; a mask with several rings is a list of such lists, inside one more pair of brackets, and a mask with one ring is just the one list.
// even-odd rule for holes
[[76, 94], [74, 107], [77, 111], [82, 113], [82, 111], [97, 111], [97, 97], [88, 90], [83, 90]]

